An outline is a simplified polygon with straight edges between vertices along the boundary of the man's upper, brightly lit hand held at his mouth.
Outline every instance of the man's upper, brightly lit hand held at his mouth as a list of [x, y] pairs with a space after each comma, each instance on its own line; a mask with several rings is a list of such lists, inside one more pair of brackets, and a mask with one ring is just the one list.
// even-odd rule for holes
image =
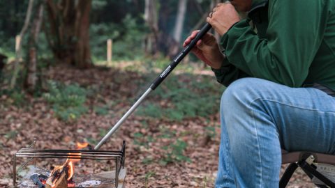
[[209, 17], [207, 17], [207, 22], [213, 26], [220, 36], [227, 33], [228, 29], [239, 21], [239, 14], [229, 1], [218, 3], [213, 11], [209, 13]]

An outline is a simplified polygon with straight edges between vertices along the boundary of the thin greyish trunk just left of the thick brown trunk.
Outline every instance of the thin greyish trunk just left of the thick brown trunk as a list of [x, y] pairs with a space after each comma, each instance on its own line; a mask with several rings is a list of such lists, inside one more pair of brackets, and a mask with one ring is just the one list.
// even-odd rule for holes
[[43, 20], [43, 9], [44, 5], [42, 1], [38, 1], [38, 13], [36, 13], [33, 24], [31, 26], [31, 33], [29, 38], [29, 51], [27, 61], [27, 75], [25, 78], [25, 88], [29, 93], [36, 91], [37, 83], [37, 49], [38, 34], [40, 33], [40, 25]]

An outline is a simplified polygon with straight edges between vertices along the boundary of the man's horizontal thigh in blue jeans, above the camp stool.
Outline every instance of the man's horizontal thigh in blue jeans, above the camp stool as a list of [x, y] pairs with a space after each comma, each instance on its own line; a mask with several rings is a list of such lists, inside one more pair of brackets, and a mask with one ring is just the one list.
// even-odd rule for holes
[[264, 79], [244, 82], [249, 99], [262, 103], [276, 125], [281, 148], [335, 154], [335, 97], [316, 88], [290, 88]]

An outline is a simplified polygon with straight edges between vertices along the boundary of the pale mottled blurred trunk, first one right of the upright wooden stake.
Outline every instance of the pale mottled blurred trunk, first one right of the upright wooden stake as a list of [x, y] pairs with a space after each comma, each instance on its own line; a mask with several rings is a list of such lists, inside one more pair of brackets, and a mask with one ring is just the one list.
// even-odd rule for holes
[[144, 20], [149, 25], [151, 33], [146, 38], [145, 51], [148, 54], [156, 54], [158, 52], [158, 14], [157, 1], [145, 0]]

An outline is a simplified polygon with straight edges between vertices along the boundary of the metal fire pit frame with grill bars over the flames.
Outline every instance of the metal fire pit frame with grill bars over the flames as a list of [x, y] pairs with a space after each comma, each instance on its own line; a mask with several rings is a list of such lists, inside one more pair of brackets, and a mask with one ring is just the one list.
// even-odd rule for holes
[[[126, 154], [126, 142], [123, 141], [120, 151], [110, 150], [41, 150], [36, 149], [36, 139], [27, 148], [22, 148], [13, 155], [13, 185], [16, 187], [17, 173], [19, 173], [29, 162], [36, 159], [91, 159], [91, 160], [113, 160], [115, 161], [115, 187], [119, 186], [119, 173], [124, 169], [124, 161]], [[18, 169], [17, 157], [29, 158]]]

